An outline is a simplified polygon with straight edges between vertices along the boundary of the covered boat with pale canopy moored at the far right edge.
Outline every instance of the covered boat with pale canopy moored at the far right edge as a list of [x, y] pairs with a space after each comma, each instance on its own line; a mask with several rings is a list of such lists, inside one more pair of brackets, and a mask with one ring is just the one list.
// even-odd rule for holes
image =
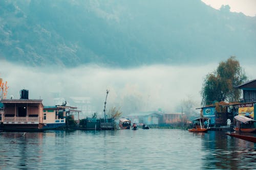
[[243, 115], [234, 116], [234, 125], [236, 126], [233, 130], [236, 132], [254, 132], [256, 131], [256, 128], [254, 128], [254, 122], [256, 122], [256, 120]]

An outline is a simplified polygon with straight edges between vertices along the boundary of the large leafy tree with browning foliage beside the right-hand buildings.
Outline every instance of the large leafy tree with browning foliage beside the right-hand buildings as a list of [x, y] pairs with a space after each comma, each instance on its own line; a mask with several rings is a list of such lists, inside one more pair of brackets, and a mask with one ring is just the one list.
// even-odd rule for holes
[[236, 57], [220, 62], [217, 70], [208, 74], [203, 82], [201, 95], [202, 105], [214, 101], [238, 102], [241, 91], [234, 87], [247, 81], [247, 77]]

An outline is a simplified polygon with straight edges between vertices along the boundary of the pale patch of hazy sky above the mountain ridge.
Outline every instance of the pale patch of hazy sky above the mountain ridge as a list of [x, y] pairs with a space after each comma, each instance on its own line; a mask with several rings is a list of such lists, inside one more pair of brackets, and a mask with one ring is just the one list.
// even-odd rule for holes
[[220, 9], [222, 5], [229, 5], [231, 12], [242, 12], [247, 16], [256, 15], [255, 0], [201, 0], [212, 8]]

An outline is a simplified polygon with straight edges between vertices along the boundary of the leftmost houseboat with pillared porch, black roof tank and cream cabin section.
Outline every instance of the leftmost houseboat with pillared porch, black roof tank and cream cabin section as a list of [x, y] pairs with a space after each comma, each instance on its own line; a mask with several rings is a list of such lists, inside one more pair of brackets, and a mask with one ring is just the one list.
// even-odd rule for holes
[[[28, 99], [28, 90], [20, 90], [20, 99], [3, 99], [2, 130], [45, 131], [66, 125], [66, 110], [72, 107], [44, 107], [42, 100]], [[73, 107], [74, 108], [74, 107]]]

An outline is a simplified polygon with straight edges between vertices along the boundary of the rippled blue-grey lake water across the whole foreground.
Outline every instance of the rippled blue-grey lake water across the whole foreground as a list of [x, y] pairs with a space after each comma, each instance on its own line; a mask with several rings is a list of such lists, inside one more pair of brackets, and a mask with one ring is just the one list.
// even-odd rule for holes
[[0, 133], [0, 169], [256, 169], [256, 144], [175, 129]]

